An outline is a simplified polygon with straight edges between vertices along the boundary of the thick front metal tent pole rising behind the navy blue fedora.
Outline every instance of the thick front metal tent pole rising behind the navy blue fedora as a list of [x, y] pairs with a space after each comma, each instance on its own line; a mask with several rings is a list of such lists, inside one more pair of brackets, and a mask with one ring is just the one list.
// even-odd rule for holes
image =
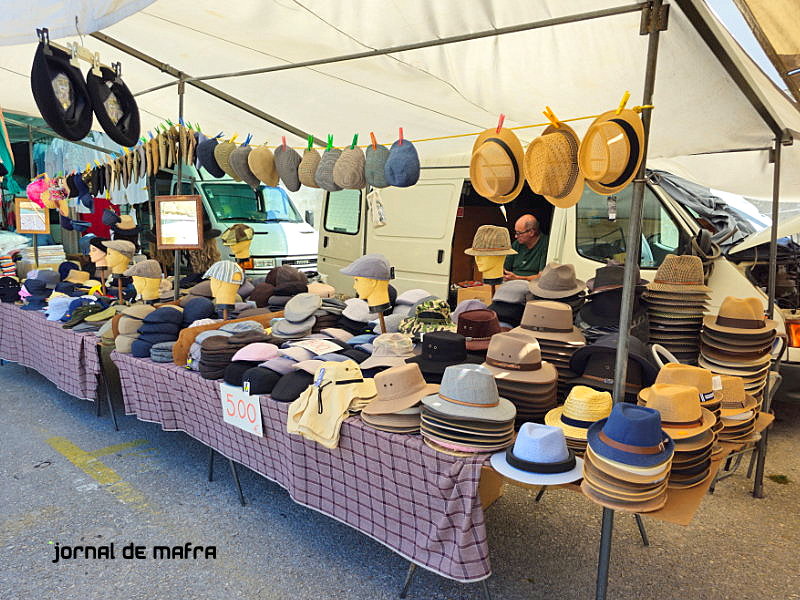
[[[667, 28], [669, 5], [663, 5], [662, 0], [653, 0], [642, 11], [642, 27], [640, 33], [648, 36], [647, 62], [644, 75], [644, 94], [642, 104], [653, 103], [653, 91], [656, 82], [656, 61], [658, 58], [658, 41], [661, 31]], [[633, 182], [633, 198], [631, 201], [630, 216], [628, 218], [628, 240], [626, 244], [625, 272], [622, 283], [622, 307], [619, 317], [619, 343], [617, 344], [616, 368], [614, 370], [614, 402], [625, 399], [625, 381], [628, 374], [628, 337], [630, 332], [631, 317], [633, 315], [633, 302], [638, 273], [639, 254], [642, 243], [642, 206], [644, 204], [644, 191], [646, 186], [647, 148], [650, 139], [651, 111], [642, 112], [642, 125], [644, 126], [644, 144], [642, 146], [642, 163], [636, 179]], [[608, 590], [608, 571], [611, 562], [611, 538], [614, 532], [614, 511], [603, 508], [603, 521], [600, 529], [600, 552], [597, 561], [597, 581], [595, 598], [605, 600]]]

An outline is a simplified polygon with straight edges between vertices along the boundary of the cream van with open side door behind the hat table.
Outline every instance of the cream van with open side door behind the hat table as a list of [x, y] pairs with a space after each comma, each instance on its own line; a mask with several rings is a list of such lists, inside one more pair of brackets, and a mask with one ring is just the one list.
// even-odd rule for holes
[[[384, 254], [394, 265], [398, 292], [423, 288], [442, 298], [453, 284], [477, 280], [480, 274], [464, 250], [475, 230], [486, 224], [513, 227], [531, 213], [549, 235], [548, 261], [575, 265], [580, 279], [594, 276], [609, 259], [624, 259], [633, 186], [615, 196], [600, 196], [586, 188], [577, 206], [556, 209], [527, 186], [513, 202], [497, 205], [472, 189], [466, 167], [423, 169], [410, 188], [379, 190], [385, 225], [376, 227], [363, 191], [326, 194], [320, 223], [319, 271], [337, 289], [352, 287], [339, 269], [365, 253]], [[669, 253], [686, 253], [701, 226], [692, 212], [656, 183], [648, 182], [642, 222], [641, 273], [652, 280]], [[726, 296], [766, 295], [751, 281], [748, 264], [725, 257], [714, 261], [709, 285], [710, 308]], [[763, 282], [766, 285], [766, 282]], [[784, 315], [780, 328], [784, 329]], [[787, 369], [800, 369], [800, 348], [784, 355]], [[786, 385], [786, 382], [784, 383]]]

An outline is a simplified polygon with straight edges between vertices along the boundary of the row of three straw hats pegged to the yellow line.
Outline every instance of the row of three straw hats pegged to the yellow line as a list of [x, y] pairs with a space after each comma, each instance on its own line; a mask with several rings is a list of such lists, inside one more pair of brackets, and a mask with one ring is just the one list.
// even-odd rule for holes
[[581, 199], [584, 183], [601, 195], [627, 186], [639, 170], [644, 149], [644, 126], [639, 113], [620, 106], [598, 116], [583, 140], [567, 124], [559, 122], [548, 107], [550, 125], [527, 149], [516, 134], [503, 127], [478, 136], [472, 148], [470, 179], [484, 198], [497, 204], [511, 202], [527, 181], [535, 193], [559, 208]]

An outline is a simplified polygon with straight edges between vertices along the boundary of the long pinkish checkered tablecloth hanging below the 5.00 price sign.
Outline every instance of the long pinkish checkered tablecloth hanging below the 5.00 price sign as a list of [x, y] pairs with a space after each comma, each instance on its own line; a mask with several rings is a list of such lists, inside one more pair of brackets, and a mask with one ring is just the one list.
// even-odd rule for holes
[[126, 414], [184, 431], [284, 487], [295, 502], [378, 540], [444, 577], [491, 574], [478, 483], [485, 456], [455, 458], [416, 435], [351, 417], [329, 450], [286, 432], [288, 404], [261, 397], [264, 437], [222, 420], [219, 384], [174, 364], [112, 353]]

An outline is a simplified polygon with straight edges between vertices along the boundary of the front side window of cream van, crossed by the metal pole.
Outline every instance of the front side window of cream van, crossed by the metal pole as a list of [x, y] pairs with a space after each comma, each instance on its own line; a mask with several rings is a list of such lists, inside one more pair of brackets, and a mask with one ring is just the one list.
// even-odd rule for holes
[[[624, 262], [632, 196], [633, 184], [612, 196], [601, 196], [588, 187], [584, 190], [575, 207], [578, 254], [603, 263], [611, 259]], [[667, 254], [679, 251], [684, 234], [649, 187], [645, 187], [642, 215], [639, 265], [655, 269]]]

